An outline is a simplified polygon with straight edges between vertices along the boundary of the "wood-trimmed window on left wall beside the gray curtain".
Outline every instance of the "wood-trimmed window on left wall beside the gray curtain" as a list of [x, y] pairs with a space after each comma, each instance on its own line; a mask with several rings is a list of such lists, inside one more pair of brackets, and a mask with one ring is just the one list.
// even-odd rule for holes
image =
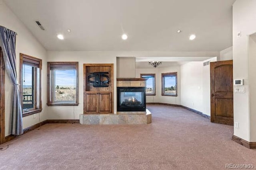
[[22, 115], [42, 111], [42, 60], [20, 53]]

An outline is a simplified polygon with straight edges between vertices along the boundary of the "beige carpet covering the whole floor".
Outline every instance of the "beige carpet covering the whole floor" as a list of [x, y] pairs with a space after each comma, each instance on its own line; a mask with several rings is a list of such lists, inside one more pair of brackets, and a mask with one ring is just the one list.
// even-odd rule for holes
[[0, 169], [256, 167], [256, 150], [232, 141], [232, 126], [210, 123], [181, 107], [147, 107], [152, 112], [148, 125], [46, 124], [6, 143]]

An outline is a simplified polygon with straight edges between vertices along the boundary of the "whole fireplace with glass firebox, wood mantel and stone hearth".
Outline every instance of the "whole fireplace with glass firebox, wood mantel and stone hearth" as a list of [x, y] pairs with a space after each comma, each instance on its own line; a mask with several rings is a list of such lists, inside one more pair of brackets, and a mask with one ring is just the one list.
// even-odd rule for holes
[[146, 79], [117, 79], [116, 114], [80, 114], [83, 125], [148, 124], [152, 122], [146, 109]]

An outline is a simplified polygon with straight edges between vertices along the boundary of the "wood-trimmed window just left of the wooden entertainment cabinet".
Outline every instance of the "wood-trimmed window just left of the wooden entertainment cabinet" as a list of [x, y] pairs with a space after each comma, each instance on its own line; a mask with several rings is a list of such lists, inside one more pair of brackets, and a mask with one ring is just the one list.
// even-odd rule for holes
[[48, 106], [78, 106], [78, 62], [48, 62]]

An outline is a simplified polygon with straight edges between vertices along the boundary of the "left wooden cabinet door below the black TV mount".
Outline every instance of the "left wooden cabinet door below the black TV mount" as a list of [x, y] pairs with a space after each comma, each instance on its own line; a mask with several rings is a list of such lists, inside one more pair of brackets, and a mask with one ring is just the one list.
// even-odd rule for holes
[[85, 92], [85, 113], [98, 113], [98, 92]]

